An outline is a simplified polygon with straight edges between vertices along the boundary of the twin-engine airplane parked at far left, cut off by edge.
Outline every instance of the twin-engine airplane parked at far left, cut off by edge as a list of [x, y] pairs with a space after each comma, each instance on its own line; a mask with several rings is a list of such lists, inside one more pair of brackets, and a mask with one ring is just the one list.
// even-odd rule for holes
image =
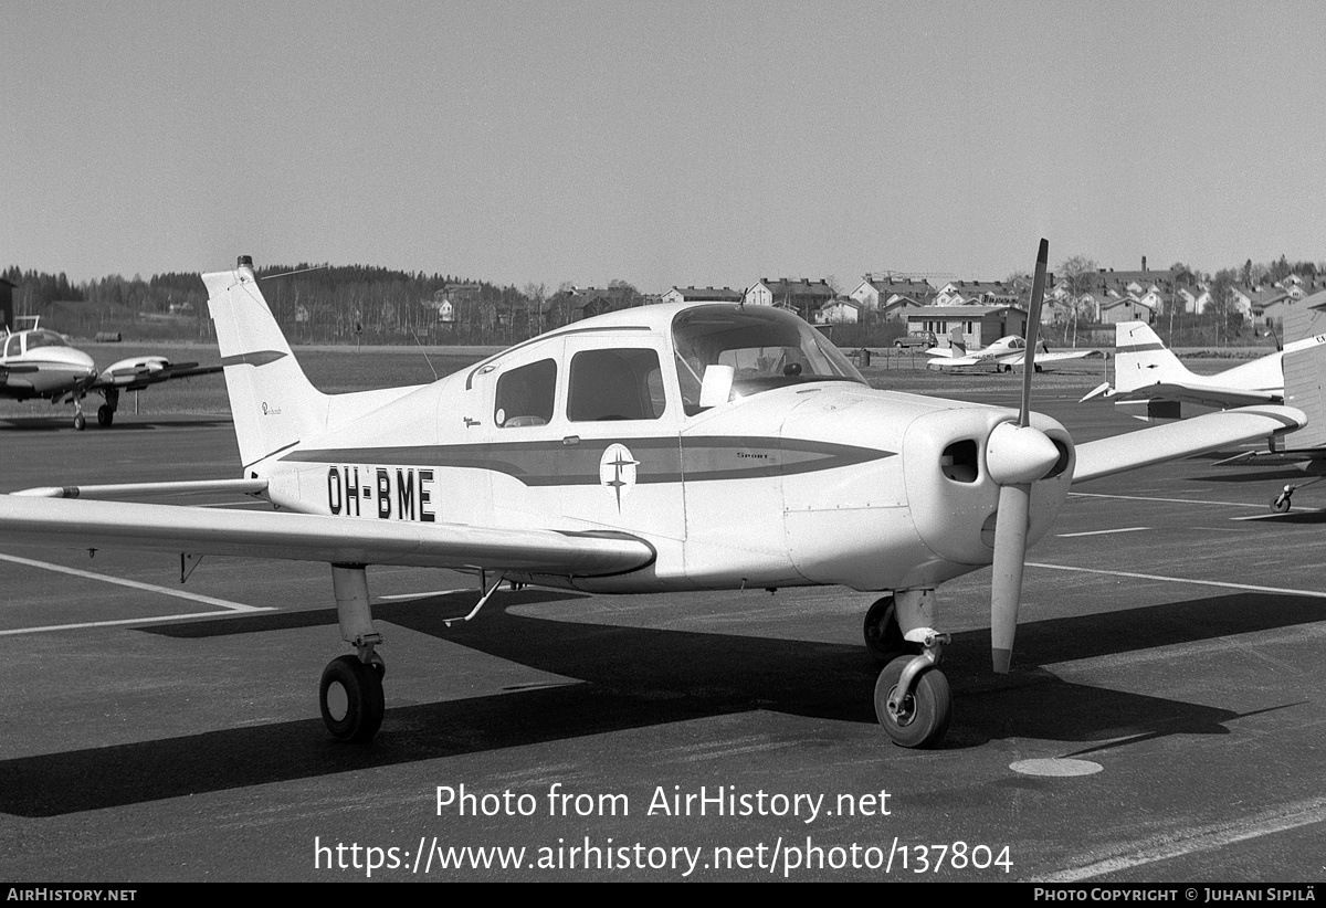
[[5, 325], [0, 335], [0, 398], [72, 403], [74, 428], [80, 431], [88, 424], [82, 399], [89, 394], [99, 394], [105, 399], [97, 410], [97, 423], [110, 426], [123, 391], [139, 391], [174, 378], [219, 371], [220, 366], [172, 363], [166, 357], [131, 357], [98, 372], [91, 357], [72, 347], [62, 334], [40, 325], [24, 331], [11, 331]]

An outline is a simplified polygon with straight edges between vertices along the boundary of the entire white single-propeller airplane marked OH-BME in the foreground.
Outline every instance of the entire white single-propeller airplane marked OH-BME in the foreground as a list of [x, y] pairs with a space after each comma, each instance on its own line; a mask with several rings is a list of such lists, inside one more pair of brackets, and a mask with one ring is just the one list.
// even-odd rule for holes
[[[1032, 334], [1045, 286], [1042, 240]], [[550, 331], [428, 386], [325, 395], [241, 258], [204, 274], [244, 477], [0, 496], [0, 541], [325, 561], [353, 655], [322, 673], [337, 738], [373, 738], [385, 664], [367, 565], [602, 593], [845, 586], [883, 663], [894, 742], [937, 742], [949, 636], [936, 589], [993, 563], [996, 671], [1009, 668], [1026, 546], [1070, 484], [1265, 439], [1289, 407], [1212, 414], [1074, 447], [1020, 410], [873, 390], [792, 313], [655, 305]], [[276, 512], [60, 501], [231, 489]], [[296, 512], [296, 513], [292, 513]], [[743, 606], [745, 607], [745, 606]]]

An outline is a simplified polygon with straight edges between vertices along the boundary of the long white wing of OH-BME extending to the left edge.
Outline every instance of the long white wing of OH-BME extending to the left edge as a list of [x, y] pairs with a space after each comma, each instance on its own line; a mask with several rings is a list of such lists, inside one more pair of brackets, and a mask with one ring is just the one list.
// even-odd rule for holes
[[593, 577], [654, 561], [625, 534], [0, 494], [0, 542]]

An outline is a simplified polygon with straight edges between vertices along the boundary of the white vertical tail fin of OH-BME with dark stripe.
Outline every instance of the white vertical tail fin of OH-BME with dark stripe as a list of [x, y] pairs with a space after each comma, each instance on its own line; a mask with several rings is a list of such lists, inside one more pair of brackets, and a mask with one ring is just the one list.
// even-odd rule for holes
[[313, 387], [296, 362], [247, 256], [235, 270], [203, 274], [203, 282], [225, 367], [240, 460], [248, 468], [324, 428], [328, 395]]

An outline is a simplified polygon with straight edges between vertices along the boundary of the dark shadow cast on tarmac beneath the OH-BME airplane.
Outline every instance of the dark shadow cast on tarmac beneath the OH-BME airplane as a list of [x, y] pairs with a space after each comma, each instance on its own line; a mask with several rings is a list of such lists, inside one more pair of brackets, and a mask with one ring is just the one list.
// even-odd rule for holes
[[[565, 598], [526, 590], [507, 594], [504, 604]], [[863, 646], [582, 624], [499, 608], [472, 624], [444, 626], [475, 599], [378, 604], [375, 616], [579, 683], [392, 708], [389, 673], [387, 716], [371, 746], [334, 742], [310, 717], [23, 757], [0, 762], [0, 813], [54, 817], [752, 710], [770, 713], [774, 734], [788, 728], [774, 713], [875, 725], [878, 667]], [[1238, 713], [1070, 684], [1040, 665], [1315, 620], [1319, 600], [1241, 594], [1026, 623], [1006, 677], [988, 669], [988, 631], [957, 634], [944, 661], [955, 692], [947, 748], [1010, 736], [1110, 746], [1120, 738], [1228, 734], [1225, 724]], [[335, 624], [328, 608], [142, 630], [188, 639]], [[1292, 692], [1282, 705], [1293, 705]], [[879, 748], [926, 758], [892, 748], [882, 732]], [[1087, 749], [1099, 748], [1079, 752]]]

